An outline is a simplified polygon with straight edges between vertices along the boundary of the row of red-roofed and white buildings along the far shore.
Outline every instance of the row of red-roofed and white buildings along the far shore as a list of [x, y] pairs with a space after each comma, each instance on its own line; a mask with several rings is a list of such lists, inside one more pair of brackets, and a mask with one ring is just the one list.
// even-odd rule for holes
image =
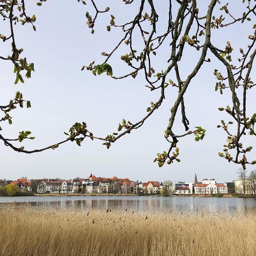
[[[16, 181], [0, 180], [0, 187], [7, 184], [15, 184], [19, 191], [33, 191], [39, 194], [47, 193], [107, 193], [107, 194], [161, 194], [166, 186], [170, 194], [242, 194], [242, 181], [217, 183], [215, 179], [203, 179], [198, 182], [195, 175], [194, 183], [160, 183], [158, 181], [138, 182], [128, 178], [102, 178], [90, 175], [88, 178], [73, 180], [41, 179], [27, 180], [25, 178]], [[246, 180], [246, 194], [253, 194], [250, 183]]]

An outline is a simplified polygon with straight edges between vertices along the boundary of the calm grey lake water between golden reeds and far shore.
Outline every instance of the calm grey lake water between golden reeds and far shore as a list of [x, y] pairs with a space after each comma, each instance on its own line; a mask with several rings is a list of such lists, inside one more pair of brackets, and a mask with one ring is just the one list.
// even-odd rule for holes
[[182, 196], [26, 196], [0, 197], [0, 207], [4, 203], [16, 206], [54, 207], [59, 209], [115, 209], [149, 211], [202, 211], [246, 212], [256, 210], [256, 200], [251, 198], [208, 198]]

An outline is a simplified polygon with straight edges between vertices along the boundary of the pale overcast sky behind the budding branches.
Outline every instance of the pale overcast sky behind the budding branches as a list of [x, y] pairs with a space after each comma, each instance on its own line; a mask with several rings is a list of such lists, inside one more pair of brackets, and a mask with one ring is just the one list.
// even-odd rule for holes
[[[36, 15], [36, 32], [28, 24], [16, 25], [14, 32], [17, 47], [24, 48], [21, 57], [26, 56], [28, 62], [34, 62], [36, 72], [24, 84], [18, 83], [15, 86], [13, 64], [1, 60], [0, 103], [8, 104], [19, 90], [24, 99], [31, 101], [32, 108], [17, 108], [12, 111], [13, 124], [10, 126], [7, 122], [1, 122], [2, 134], [8, 138], [16, 138], [19, 131], [30, 130], [36, 139], [21, 144], [17, 142], [16, 145], [32, 150], [64, 140], [66, 135], [63, 132], [68, 132], [75, 122], [84, 121], [94, 136], [106, 137], [107, 134], [117, 131], [118, 123], [123, 118], [132, 123], [140, 120], [146, 114], [150, 102], [156, 102], [160, 96], [160, 91], [150, 92], [145, 87], [143, 74], [139, 74], [136, 79], [113, 80], [106, 74], [94, 76], [86, 70], [81, 71], [83, 65], [88, 65], [93, 60], [96, 64], [102, 63], [104, 58], [101, 52], [110, 52], [122, 38], [121, 29], [106, 31], [110, 14], [115, 15], [116, 24], [130, 21], [138, 12], [140, 1], [135, 0], [131, 5], [125, 5], [122, 0], [104, 1], [109, 2], [108, 4], [96, 1], [100, 10], [109, 6], [110, 11], [98, 15], [93, 35], [86, 25], [85, 17], [86, 11], [94, 13], [89, 0], [87, 5], [77, 1], [47, 1], [41, 7], [36, 6], [34, 1], [30, 2], [33, 4], [27, 3], [26, 13], [30, 16]], [[161, 1], [161, 5], [156, 4], [160, 17], [157, 26], [159, 34], [166, 30], [168, 6], [164, 2], [168, 1]], [[199, 6], [199, 15], [204, 16], [208, 5], [206, 2], [210, 1], [198, 2], [204, 2]], [[236, 0], [229, 5], [236, 17], [246, 10], [241, 2], [242, 0]], [[217, 4], [214, 15], [220, 15], [218, 9], [224, 4], [226, 2]], [[234, 48], [233, 59], [236, 60], [240, 56], [239, 48], [246, 49], [250, 44], [248, 35], [253, 33], [254, 23], [244, 22], [228, 29], [212, 30], [212, 42], [219, 48], [225, 48], [226, 41], [229, 40]], [[8, 23], [2, 22], [1, 33], [8, 35], [8, 29]], [[134, 37], [136, 35], [138, 32], [134, 32]], [[169, 44], [170, 38], [156, 51], [156, 57], [152, 58], [152, 66], [157, 72], [168, 66], [166, 60], [170, 57]], [[143, 50], [141, 40], [134, 39], [134, 45], [138, 52]], [[10, 54], [10, 50], [10, 41], [1, 43], [1, 56]], [[129, 53], [129, 48], [124, 44], [108, 61], [115, 76], [129, 71], [125, 62], [120, 60], [120, 56], [126, 53]], [[180, 63], [182, 80], [186, 79], [198, 58], [199, 52], [186, 44], [184, 60]], [[230, 91], [224, 90], [223, 95], [214, 91], [216, 80], [213, 71], [215, 68], [224, 68], [210, 52], [207, 58], [211, 62], [203, 64], [184, 96], [190, 129], [202, 126], [207, 130], [206, 137], [200, 142], [194, 141], [193, 134], [181, 138], [178, 144], [180, 163], [165, 164], [162, 168], [153, 163], [156, 153], [168, 151], [169, 147], [164, 139], [164, 130], [168, 126], [170, 108], [177, 96], [177, 88], [170, 87], [166, 89], [166, 99], [161, 107], [145, 124], [113, 143], [109, 150], [101, 141], [86, 139], [81, 147], [75, 142], [68, 142], [56, 150], [23, 154], [14, 152], [1, 142], [0, 178], [87, 178], [92, 173], [96, 176], [128, 177], [139, 181], [193, 182], [196, 173], [198, 181], [203, 178], [215, 178], [217, 182], [236, 179], [236, 170], [240, 166], [228, 163], [218, 156], [226, 143], [226, 134], [216, 128], [221, 119], [227, 122], [231, 120], [225, 112], [218, 111], [220, 106], [231, 106]], [[175, 80], [173, 73], [170, 73], [168, 79]], [[241, 93], [241, 89], [239, 92]], [[254, 102], [255, 92], [252, 89], [248, 95], [248, 116], [255, 112]], [[180, 114], [176, 116], [175, 122], [174, 132], [184, 133]], [[254, 147], [255, 138], [248, 137], [243, 143]], [[252, 159], [255, 155], [253, 151], [248, 154], [248, 158], [256, 160]]]

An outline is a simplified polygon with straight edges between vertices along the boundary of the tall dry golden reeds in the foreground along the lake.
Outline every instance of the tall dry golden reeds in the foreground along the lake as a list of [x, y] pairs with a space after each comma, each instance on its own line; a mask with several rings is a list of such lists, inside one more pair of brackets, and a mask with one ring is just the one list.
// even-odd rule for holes
[[0, 208], [1, 256], [254, 256], [256, 214]]

